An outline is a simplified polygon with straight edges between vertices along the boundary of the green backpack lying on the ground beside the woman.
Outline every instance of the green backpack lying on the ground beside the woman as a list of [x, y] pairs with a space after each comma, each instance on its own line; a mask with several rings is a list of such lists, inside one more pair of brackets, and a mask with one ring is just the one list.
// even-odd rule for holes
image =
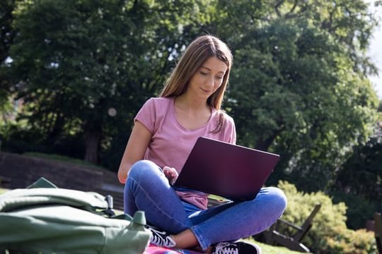
[[115, 216], [112, 198], [46, 179], [0, 195], [0, 250], [8, 253], [144, 253], [144, 212]]

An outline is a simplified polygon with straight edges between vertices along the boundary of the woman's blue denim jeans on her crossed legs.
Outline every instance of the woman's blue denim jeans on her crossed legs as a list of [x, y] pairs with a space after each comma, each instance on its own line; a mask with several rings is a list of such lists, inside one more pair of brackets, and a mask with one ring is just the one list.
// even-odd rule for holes
[[143, 210], [149, 224], [170, 234], [191, 229], [206, 250], [212, 243], [236, 241], [269, 228], [281, 217], [287, 198], [279, 188], [262, 188], [254, 200], [229, 202], [207, 210], [183, 202], [154, 162], [141, 160], [129, 170], [125, 213]]

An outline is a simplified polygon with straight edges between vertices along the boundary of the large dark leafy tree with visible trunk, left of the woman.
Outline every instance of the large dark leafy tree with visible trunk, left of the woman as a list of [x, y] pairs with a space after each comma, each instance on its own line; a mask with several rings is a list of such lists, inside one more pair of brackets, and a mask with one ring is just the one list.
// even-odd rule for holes
[[187, 41], [178, 40], [181, 30], [204, 15], [196, 7], [195, 1], [18, 2], [11, 68], [26, 105], [21, 118], [42, 143], [78, 135], [85, 159], [97, 162], [98, 149], [121, 128], [129, 131], [137, 108], [165, 80], [169, 57]]

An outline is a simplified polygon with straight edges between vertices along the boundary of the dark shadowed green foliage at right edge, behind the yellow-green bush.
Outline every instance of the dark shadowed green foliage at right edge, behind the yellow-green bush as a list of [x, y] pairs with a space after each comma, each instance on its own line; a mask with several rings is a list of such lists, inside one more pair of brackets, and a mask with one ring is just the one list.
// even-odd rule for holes
[[364, 228], [382, 205], [382, 126], [376, 124], [374, 134], [364, 145], [354, 147], [352, 155], [342, 165], [336, 183], [330, 190], [335, 200], [346, 202], [347, 226]]

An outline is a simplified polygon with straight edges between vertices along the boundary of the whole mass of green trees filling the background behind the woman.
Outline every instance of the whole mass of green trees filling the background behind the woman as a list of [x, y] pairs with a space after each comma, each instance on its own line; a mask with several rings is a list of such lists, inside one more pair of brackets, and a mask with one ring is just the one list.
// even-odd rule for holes
[[382, 210], [382, 106], [366, 55], [380, 22], [361, 0], [3, 0], [0, 147], [117, 171], [141, 105], [212, 34], [233, 52], [223, 107], [238, 144], [281, 155], [267, 185], [323, 193], [357, 231]]

